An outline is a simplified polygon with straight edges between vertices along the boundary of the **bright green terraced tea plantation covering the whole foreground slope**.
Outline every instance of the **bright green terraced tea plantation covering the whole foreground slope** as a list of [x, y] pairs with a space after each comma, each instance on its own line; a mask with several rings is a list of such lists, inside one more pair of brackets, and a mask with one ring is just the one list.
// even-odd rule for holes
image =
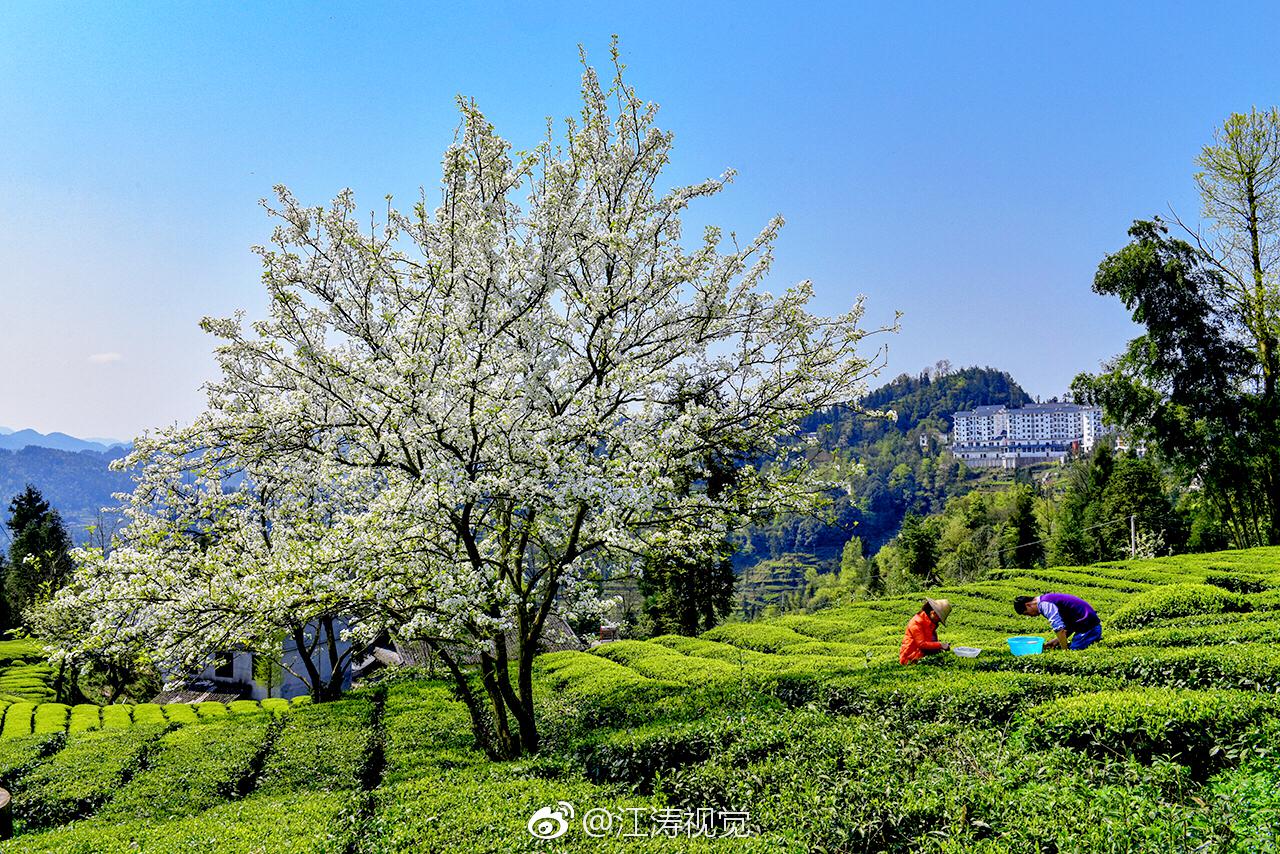
[[[1012, 598], [1050, 590], [1102, 643], [1010, 656], [1047, 634]], [[407, 677], [326, 704], [10, 698], [0, 851], [1280, 850], [1280, 548], [929, 594], [978, 658], [897, 665], [918, 597], [543, 656], [544, 749], [512, 763]]]

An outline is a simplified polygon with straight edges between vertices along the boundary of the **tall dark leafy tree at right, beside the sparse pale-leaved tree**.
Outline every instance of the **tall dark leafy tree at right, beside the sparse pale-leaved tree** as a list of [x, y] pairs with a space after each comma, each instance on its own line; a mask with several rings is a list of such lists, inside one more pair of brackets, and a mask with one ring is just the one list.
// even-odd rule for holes
[[1129, 234], [1093, 289], [1120, 297], [1146, 333], [1102, 374], [1076, 376], [1073, 393], [1201, 484], [1236, 545], [1280, 543], [1280, 425], [1262, 350], [1248, 346], [1204, 252], [1158, 219]]

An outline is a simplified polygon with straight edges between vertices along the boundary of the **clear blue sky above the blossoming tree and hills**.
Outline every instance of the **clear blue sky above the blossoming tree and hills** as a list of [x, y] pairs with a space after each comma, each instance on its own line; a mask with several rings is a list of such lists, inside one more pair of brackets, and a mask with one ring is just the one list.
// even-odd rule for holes
[[781, 213], [774, 289], [901, 310], [884, 379], [948, 359], [1047, 397], [1133, 334], [1102, 255], [1194, 216], [1213, 128], [1280, 101], [1267, 5], [586, 5], [0, 4], [0, 424], [188, 421], [198, 319], [262, 314], [273, 184], [408, 205], [457, 93], [522, 147], [614, 32], [672, 183], [739, 172], [694, 222]]

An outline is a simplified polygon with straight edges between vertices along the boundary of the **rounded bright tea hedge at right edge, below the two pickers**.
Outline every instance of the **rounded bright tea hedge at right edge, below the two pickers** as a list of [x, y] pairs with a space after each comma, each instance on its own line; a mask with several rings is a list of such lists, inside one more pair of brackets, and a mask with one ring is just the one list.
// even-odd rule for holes
[[1170, 755], [1206, 769], [1251, 726], [1277, 711], [1275, 698], [1248, 691], [1130, 688], [1052, 700], [1027, 711], [1023, 723], [1033, 746], [1097, 754], [1123, 749], [1143, 761]]

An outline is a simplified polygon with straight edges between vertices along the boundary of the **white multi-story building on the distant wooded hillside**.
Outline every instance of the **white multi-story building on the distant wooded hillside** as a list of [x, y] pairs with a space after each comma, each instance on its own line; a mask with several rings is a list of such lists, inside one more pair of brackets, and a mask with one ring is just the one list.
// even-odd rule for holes
[[978, 406], [956, 412], [954, 421], [951, 453], [979, 469], [1015, 469], [1061, 460], [1071, 451], [1088, 452], [1108, 431], [1101, 408], [1078, 403]]

